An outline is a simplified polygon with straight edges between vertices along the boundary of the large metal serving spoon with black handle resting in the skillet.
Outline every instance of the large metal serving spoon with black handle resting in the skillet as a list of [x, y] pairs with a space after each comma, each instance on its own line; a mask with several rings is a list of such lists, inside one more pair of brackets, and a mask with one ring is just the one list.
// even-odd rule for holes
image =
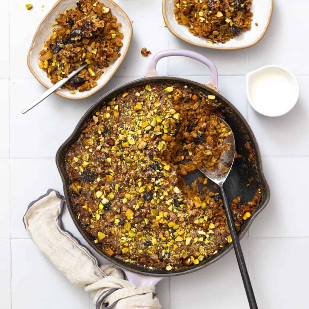
[[[221, 118], [219, 118], [217, 116], [213, 116], [213, 117], [216, 117], [218, 124], [222, 123], [222, 124], [225, 125], [225, 127], [227, 129], [230, 129], [229, 125], [224, 120], [222, 120]], [[229, 150], [225, 150], [223, 156], [221, 156], [219, 158], [221, 164], [214, 165], [214, 168], [212, 170], [209, 170], [205, 166], [202, 166], [201, 168], [199, 168], [199, 170], [206, 177], [208, 177], [210, 180], [212, 180], [215, 184], [218, 184], [218, 186], [220, 188], [220, 195], [221, 195], [221, 198], [222, 198], [222, 201], [223, 201], [223, 206], [224, 206], [224, 210], [225, 210], [225, 213], [226, 213], [226, 219], [227, 219], [227, 223], [228, 223], [228, 226], [229, 226], [229, 229], [230, 229], [230, 233], [231, 233], [231, 237], [232, 237], [232, 241], [233, 241], [233, 245], [234, 245], [234, 250], [235, 250], [239, 270], [240, 270], [240, 273], [241, 273], [241, 277], [243, 279], [243, 285], [244, 285], [245, 290], [246, 290], [248, 303], [249, 303], [250, 309], [258, 309], [256, 299], [255, 299], [255, 296], [254, 296], [254, 292], [253, 292], [253, 289], [252, 289], [250, 277], [249, 277], [248, 270], [247, 270], [247, 267], [246, 267], [245, 259], [243, 257], [243, 251], [241, 249], [238, 234], [237, 234], [237, 231], [236, 231], [236, 228], [235, 228], [232, 211], [231, 211], [230, 205], [228, 203], [225, 190], [223, 188], [223, 184], [224, 184], [227, 176], [229, 175], [229, 173], [231, 171], [232, 165], [234, 163], [234, 158], [235, 158], [235, 139], [234, 139], [234, 135], [233, 135], [232, 130], [231, 130], [231, 134], [228, 135], [223, 140], [223, 145], [225, 145], [225, 144], [229, 144], [230, 148], [229, 148]], [[191, 159], [192, 159], [192, 157], [191, 157]]]

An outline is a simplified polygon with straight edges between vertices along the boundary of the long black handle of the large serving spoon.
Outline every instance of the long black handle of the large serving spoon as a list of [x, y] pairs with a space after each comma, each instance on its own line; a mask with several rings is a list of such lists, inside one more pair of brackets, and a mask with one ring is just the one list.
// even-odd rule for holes
[[247, 266], [246, 266], [246, 263], [245, 263], [245, 259], [243, 258], [243, 251], [241, 250], [238, 234], [237, 234], [236, 229], [235, 229], [233, 215], [232, 215], [232, 212], [231, 212], [230, 205], [227, 201], [227, 197], [226, 197], [225, 191], [223, 189], [223, 186], [220, 186], [220, 194], [221, 194], [221, 198], [222, 198], [225, 213], [226, 213], [227, 223], [229, 225], [230, 233], [231, 233], [232, 240], [233, 240], [233, 245], [234, 245], [234, 250], [235, 250], [239, 270], [240, 270], [240, 273], [241, 273], [241, 277], [243, 278], [243, 285], [244, 285], [245, 290], [246, 290], [248, 303], [249, 303], [250, 309], [258, 309], [256, 300], [255, 300], [255, 296], [254, 296], [254, 292], [253, 292], [253, 289], [252, 289], [251, 281], [250, 281], [250, 278], [249, 278]]

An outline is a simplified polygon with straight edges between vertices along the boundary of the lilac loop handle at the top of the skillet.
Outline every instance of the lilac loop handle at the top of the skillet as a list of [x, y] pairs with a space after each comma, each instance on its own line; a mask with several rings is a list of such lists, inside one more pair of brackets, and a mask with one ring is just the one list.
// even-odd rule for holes
[[169, 50], [163, 50], [162, 52], [157, 53], [154, 57], [152, 57], [149, 63], [149, 66], [146, 70], [146, 73], [144, 74], [143, 77], [159, 76], [156, 70], [158, 61], [162, 58], [171, 57], [171, 56], [189, 57], [197, 61], [200, 61], [201, 63], [208, 66], [208, 68], [210, 69], [210, 79], [208, 83], [205, 83], [205, 86], [210, 87], [214, 91], [217, 91], [217, 92], [219, 91], [218, 90], [218, 70], [214, 62], [212, 62], [210, 59], [202, 56], [199, 53], [195, 53], [195, 52], [192, 52], [191, 50], [186, 50], [186, 49], [169, 49]]

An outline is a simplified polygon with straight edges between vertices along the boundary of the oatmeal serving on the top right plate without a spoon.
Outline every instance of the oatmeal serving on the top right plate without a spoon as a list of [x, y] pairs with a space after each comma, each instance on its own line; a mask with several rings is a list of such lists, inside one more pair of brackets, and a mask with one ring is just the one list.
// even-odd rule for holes
[[250, 30], [252, 0], [174, 0], [175, 18], [208, 43], [226, 43]]

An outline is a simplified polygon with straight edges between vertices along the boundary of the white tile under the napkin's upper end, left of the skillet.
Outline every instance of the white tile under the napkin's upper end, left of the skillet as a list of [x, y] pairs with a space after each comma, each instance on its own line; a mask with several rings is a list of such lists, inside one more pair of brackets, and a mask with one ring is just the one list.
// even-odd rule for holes
[[[23, 184], [16, 188], [18, 179]], [[12, 238], [29, 238], [22, 218], [28, 205], [48, 189], [55, 189], [63, 194], [62, 182], [54, 159], [11, 159], [11, 236]], [[75, 237], [81, 238], [66, 207], [63, 223]]]

